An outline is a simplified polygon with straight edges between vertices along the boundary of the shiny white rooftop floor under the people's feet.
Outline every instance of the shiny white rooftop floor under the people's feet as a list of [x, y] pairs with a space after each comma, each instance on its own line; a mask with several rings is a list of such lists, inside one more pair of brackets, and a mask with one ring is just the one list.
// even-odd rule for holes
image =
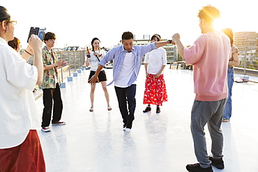
[[[137, 79], [137, 106], [131, 132], [123, 132], [123, 122], [116, 100], [114, 85], [108, 86], [112, 111], [107, 111], [100, 84], [95, 91], [94, 112], [87, 83], [89, 70], [82, 70], [73, 81], [61, 88], [63, 126], [50, 126], [52, 131], [38, 130], [45, 155], [47, 171], [92, 172], [183, 172], [186, 164], [197, 162], [190, 132], [190, 113], [195, 98], [192, 70], [165, 68], [168, 102], [161, 113], [142, 111], [145, 72], [142, 66]], [[112, 69], [105, 70], [112, 81]], [[239, 75], [236, 75], [236, 79]], [[250, 77], [258, 81], [258, 77]], [[213, 171], [257, 171], [257, 97], [255, 82], [234, 83], [232, 119], [222, 123], [225, 136], [225, 169]], [[42, 116], [42, 97], [36, 100], [38, 115]], [[211, 138], [206, 127], [208, 154]]]

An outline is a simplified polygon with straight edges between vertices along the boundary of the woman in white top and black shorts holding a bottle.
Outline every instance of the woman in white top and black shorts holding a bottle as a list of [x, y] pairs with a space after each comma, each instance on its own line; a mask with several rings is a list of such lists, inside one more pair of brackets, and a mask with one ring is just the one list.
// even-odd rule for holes
[[[88, 67], [91, 65], [91, 73], [89, 75], [89, 79], [95, 74], [97, 68], [98, 68], [98, 63], [100, 63], [100, 60], [105, 56], [106, 52], [103, 49], [100, 49], [100, 40], [98, 38], [93, 38], [91, 40], [91, 45], [92, 45], [92, 51], [89, 53], [86, 53], [86, 66]], [[105, 74], [104, 70], [100, 71], [100, 74], [98, 75], [98, 81], [100, 81], [103, 91], [105, 92], [105, 97], [107, 100], [107, 110], [111, 111], [112, 108], [110, 107], [109, 104], [109, 93], [107, 92], [107, 77]], [[92, 85], [91, 84], [91, 108], [89, 111], [93, 111], [93, 103], [94, 103], [94, 91], [96, 88], [96, 84]]]

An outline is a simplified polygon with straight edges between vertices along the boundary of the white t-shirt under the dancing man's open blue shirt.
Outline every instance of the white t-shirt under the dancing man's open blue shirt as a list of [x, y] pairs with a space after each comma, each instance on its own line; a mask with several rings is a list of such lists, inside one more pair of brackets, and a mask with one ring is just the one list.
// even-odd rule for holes
[[[128, 81], [132, 77], [132, 72], [135, 71], [134, 67], [135, 55], [132, 54], [132, 52], [126, 53], [119, 75], [117, 75], [116, 80], [114, 81], [114, 85], [120, 88], [128, 87]], [[136, 81], [132, 84], [136, 84]]]

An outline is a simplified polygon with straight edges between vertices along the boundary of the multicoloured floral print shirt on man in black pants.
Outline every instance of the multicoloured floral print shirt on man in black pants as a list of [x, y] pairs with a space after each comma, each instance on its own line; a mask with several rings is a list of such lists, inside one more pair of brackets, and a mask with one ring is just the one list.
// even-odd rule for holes
[[[54, 52], [52, 49], [51, 51], [48, 50], [46, 46], [42, 49], [42, 57], [44, 67], [46, 65], [52, 65], [58, 61], [56, 52]], [[50, 70], [44, 70], [43, 83], [40, 85], [40, 88], [56, 88], [56, 79], [59, 79], [57, 67], [54, 67]]]

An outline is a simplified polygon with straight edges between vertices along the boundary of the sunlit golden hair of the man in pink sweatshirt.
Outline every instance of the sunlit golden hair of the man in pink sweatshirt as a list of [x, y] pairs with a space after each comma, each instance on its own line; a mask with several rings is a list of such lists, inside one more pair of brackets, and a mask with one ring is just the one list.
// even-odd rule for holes
[[204, 6], [198, 13], [199, 19], [204, 19], [205, 22], [212, 25], [215, 19], [220, 18], [220, 11], [214, 6]]

